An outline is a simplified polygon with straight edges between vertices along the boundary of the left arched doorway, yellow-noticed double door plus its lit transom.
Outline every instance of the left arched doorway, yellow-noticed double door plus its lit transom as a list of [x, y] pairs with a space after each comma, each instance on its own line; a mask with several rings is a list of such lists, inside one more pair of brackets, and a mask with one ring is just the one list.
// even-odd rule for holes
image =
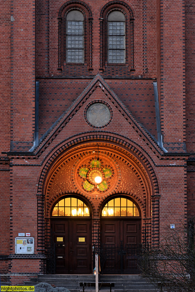
[[90, 274], [91, 210], [79, 197], [58, 199], [51, 209], [56, 274]]

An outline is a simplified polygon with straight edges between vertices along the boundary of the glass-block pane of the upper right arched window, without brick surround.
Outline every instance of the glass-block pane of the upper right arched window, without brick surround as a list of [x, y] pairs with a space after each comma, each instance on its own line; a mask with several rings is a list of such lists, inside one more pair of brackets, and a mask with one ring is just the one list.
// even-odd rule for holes
[[112, 11], [107, 23], [107, 62], [125, 63], [125, 15]]

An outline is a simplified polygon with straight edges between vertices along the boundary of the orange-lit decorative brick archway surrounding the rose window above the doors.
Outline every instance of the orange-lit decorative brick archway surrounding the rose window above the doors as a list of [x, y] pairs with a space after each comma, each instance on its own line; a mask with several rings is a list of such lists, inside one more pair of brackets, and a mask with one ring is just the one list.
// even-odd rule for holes
[[[115, 140], [118, 139], [115, 137]], [[147, 232], [149, 242], [153, 245], [158, 244], [159, 189], [157, 178], [151, 165], [152, 160], [146, 157], [143, 151], [140, 151], [141, 149], [137, 149], [139, 147], [135, 148], [135, 145], [126, 147], [128, 144], [122, 139], [120, 139], [120, 144], [103, 139], [96, 141], [93, 139], [80, 143], [78, 140], [76, 141], [77, 143], [69, 142], [68, 145], [65, 143], [59, 145], [60, 148], [58, 146], [58, 150], [52, 151], [51, 155], [49, 155], [50, 157], [47, 157], [44, 161], [45, 163], [43, 163], [42, 179], [39, 179], [39, 190], [41, 190], [42, 194], [37, 195], [39, 212], [43, 214], [45, 210], [45, 235], [49, 234], [51, 208], [65, 194], [77, 195], [88, 201], [92, 209], [94, 232], [98, 229], [100, 209], [105, 199], [118, 194], [132, 198], [139, 205], [142, 212], [142, 232]], [[114, 175], [117, 178], [115, 176], [109, 190], [93, 194], [82, 189], [78, 179], [76, 179], [76, 175], [81, 164], [86, 164], [91, 158], [97, 157], [97, 142], [99, 144], [100, 159], [105, 164], [112, 166]], [[128, 179], [127, 174], [130, 174], [130, 179]], [[65, 177], [69, 178], [68, 184], [68, 180], [66, 182], [64, 180]], [[43, 219], [43, 215], [39, 218]], [[41, 248], [44, 246], [44, 242], [41, 240], [44, 230], [43, 220], [40, 221], [39, 247]]]

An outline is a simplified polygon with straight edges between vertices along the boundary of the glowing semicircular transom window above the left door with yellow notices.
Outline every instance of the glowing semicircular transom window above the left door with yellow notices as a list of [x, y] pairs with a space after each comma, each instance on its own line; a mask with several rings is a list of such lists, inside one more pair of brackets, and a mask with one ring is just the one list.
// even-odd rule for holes
[[79, 216], [89, 217], [87, 205], [77, 198], [65, 198], [60, 200], [53, 208], [52, 216]]

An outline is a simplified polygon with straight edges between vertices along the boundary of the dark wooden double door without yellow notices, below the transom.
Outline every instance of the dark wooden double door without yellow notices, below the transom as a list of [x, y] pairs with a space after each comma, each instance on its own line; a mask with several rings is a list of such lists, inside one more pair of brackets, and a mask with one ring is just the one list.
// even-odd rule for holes
[[141, 243], [141, 219], [102, 219], [102, 272], [137, 274]]

